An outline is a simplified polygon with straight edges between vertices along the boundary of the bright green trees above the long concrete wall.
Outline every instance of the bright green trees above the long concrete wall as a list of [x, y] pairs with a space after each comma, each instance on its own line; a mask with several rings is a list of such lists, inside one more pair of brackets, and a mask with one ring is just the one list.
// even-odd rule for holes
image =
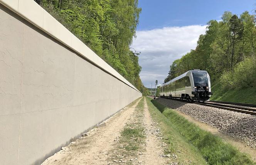
[[141, 8], [138, 0], [35, 0], [125, 79], [148, 94], [140, 53], [131, 51]]

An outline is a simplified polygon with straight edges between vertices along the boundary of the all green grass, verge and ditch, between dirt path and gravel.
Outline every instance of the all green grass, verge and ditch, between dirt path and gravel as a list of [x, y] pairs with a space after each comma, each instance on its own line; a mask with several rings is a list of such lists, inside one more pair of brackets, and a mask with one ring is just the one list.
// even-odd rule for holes
[[[224, 142], [218, 136], [212, 135], [208, 131], [204, 131], [189, 122], [183, 116], [180, 116], [175, 110], [158, 103], [156, 100], [147, 99], [150, 111], [159, 111], [158, 120], [162, 121], [166, 130], [170, 129], [171, 136], [167, 134], [167, 141], [170, 141], [170, 151], [177, 150], [177, 146], [173, 145], [173, 140], [179, 138], [182, 143], [187, 143], [185, 147], [189, 148], [198, 164], [210, 165], [252, 165], [255, 164], [248, 155], [239, 152], [234, 146]], [[153, 116], [156, 116], [153, 114]], [[165, 133], [166, 134], [166, 133]], [[179, 134], [179, 135], [175, 135]], [[174, 136], [175, 135], [175, 136]], [[204, 158], [205, 162], [200, 160]]]

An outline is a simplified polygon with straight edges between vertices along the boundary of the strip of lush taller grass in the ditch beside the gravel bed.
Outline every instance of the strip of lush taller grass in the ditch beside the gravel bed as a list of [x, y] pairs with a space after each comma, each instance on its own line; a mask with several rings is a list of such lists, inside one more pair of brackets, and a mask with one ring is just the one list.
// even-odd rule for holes
[[[148, 98], [148, 100], [150, 100]], [[194, 123], [180, 116], [175, 110], [151, 99], [155, 106], [170, 122], [169, 126], [182, 135], [188, 143], [195, 146], [202, 157], [210, 165], [253, 165], [256, 164], [251, 158], [241, 153], [234, 146], [226, 143], [218, 136], [204, 131]], [[148, 103], [150, 104], [150, 101]]]

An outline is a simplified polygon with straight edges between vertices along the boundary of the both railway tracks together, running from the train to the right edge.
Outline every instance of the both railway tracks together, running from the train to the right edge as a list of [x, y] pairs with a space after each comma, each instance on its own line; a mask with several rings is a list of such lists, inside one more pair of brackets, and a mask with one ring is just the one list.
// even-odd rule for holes
[[161, 97], [161, 98], [173, 99], [173, 100], [183, 101], [187, 103], [200, 104], [200, 105], [211, 106], [219, 109], [226, 109], [229, 111], [256, 115], [256, 105], [254, 104], [232, 103], [232, 102], [225, 102], [225, 101], [205, 101], [202, 103], [197, 101], [187, 101], [180, 98], [170, 98], [167, 96]]

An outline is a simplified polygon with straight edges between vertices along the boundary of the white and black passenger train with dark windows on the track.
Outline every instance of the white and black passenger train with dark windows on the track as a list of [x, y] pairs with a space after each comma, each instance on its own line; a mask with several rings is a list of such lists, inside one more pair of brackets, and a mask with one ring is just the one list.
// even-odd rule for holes
[[211, 79], [207, 71], [193, 69], [160, 86], [160, 98], [181, 98], [189, 101], [208, 101]]

